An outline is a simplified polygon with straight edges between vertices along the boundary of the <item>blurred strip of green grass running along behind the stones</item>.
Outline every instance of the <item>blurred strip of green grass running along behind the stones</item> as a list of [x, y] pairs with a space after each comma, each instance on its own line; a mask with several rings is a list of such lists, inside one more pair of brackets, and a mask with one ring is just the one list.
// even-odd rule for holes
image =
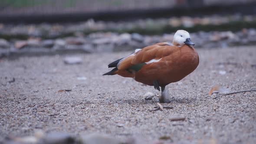
[[[237, 32], [240, 31], [243, 28], [255, 28], [256, 29], [256, 20], [254, 21], [233, 21], [230, 23], [225, 23], [221, 25], [195, 25], [193, 27], [184, 27], [184, 26], [177, 26], [173, 27], [170, 25], [148, 25], [144, 28], [141, 27], [134, 27], [132, 29], [104, 29], [104, 30], [95, 30], [95, 29], [84, 29], [83, 33], [85, 35], [95, 32], [116, 32], [116, 33], [139, 33], [142, 35], [162, 35], [164, 33], [174, 33], [177, 31], [177, 29], [184, 29], [189, 31], [190, 33], [198, 32], [198, 31], [232, 31]], [[75, 32], [63, 32], [57, 36], [49, 36], [48, 33], [43, 33], [40, 38], [42, 39], [56, 39], [56, 38], [63, 38], [67, 36], [75, 36]], [[26, 34], [4, 34], [0, 33], [0, 37], [3, 39], [28, 39], [30, 35]]]

